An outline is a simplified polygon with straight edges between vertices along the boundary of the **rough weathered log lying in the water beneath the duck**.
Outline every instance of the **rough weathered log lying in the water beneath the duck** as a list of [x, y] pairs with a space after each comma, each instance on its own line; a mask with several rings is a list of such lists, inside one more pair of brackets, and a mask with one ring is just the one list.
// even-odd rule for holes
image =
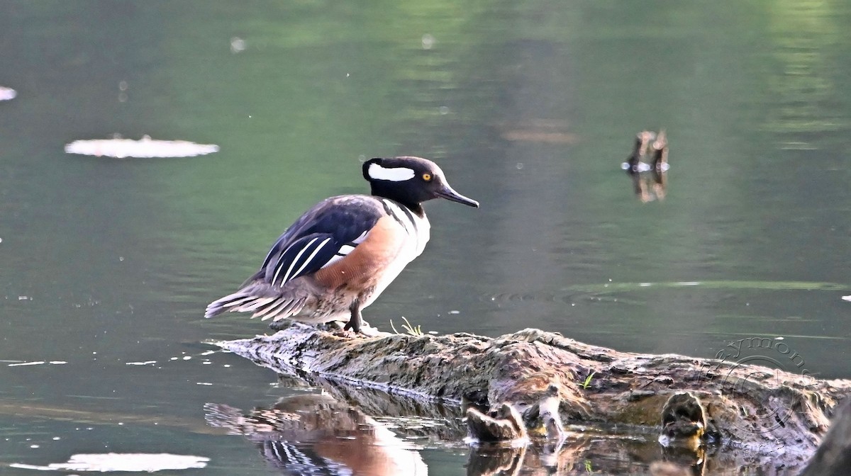
[[[680, 425], [677, 419], [689, 420], [694, 408], [679, 411], [669, 400], [676, 403], [680, 397], [672, 396], [687, 394], [703, 410], [697, 412], [700, 421], [691, 418], [683, 427], [700, 428], [691, 433], [700, 440], [688, 445], [710, 439], [794, 466], [814, 454], [832, 409], [851, 391], [849, 380], [677, 354], [625, 353], [537, 329], [495, 338], [363, 337], [294, 323], [272, 336], [217, 344], [283, 374], [302, 371], [389, 394], [469, 405], [467, 416], [474, 421], [469, 428], [480, 439], [488, 435], [477, 433], [476, 422], [500, 428], [497, 439], [525, 433], [561, 438], [563, 422], [661, 428], [664, 419], [666, 427]], [[519, 411], [525, 428], [506, 433], [511, 418], [501, 416], [511, 411], [504, 405]]]

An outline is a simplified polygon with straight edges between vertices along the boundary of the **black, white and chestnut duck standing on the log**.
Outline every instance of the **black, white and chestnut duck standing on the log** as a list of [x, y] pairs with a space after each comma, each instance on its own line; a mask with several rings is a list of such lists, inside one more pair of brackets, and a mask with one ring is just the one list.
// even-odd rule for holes
[[429, 241], [423, 202], [443, 198], [479, 207], [421, 157], [370, 159], [363, 178], [370, 195], [333, 196], [311, 207], [278, 237], [260, 269], [237, 292], [209, 303], [204, 317], [250, 312], [273, 322], [345, 320], [344, 331], [360, 333], [363, 309]]

